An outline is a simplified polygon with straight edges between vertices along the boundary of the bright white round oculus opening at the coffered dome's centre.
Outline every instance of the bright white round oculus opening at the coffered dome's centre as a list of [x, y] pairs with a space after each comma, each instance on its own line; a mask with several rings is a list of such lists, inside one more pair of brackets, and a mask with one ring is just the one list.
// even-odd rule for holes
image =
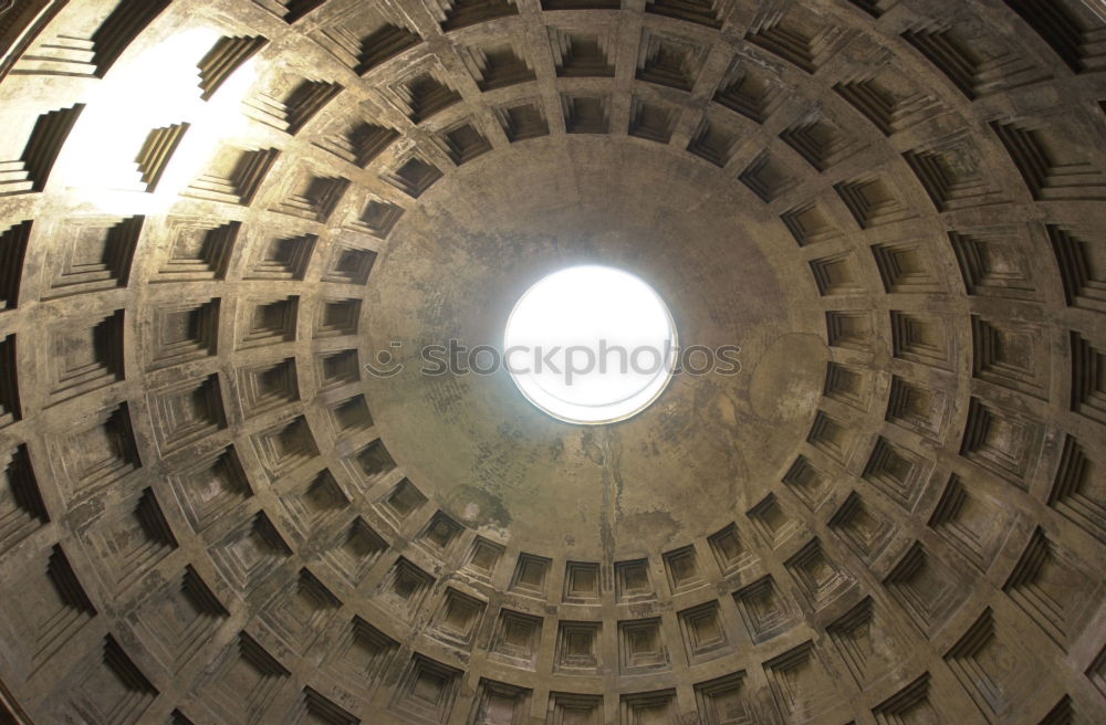
[[507, 322], [504, 360], [522, 393], [571, 423], [645, 410], [676, 366], [676, 325], [639, 277], [574, 266], [530, 287]]

